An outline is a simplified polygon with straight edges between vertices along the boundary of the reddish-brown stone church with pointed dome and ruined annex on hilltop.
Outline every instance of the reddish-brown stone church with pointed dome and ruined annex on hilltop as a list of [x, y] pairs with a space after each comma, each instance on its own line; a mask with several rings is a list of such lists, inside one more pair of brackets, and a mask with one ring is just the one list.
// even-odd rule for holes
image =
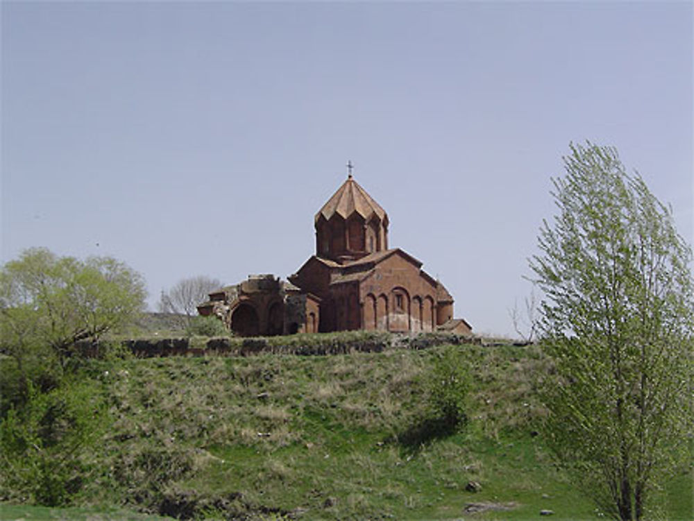
[[389, 248], [385, 210], [357, 183], [347, 180], [314, 218], [316, 253], [287, 281], [273, 275], [210, 293], [198, 306], [239, 336], [299, 332], [446, 330], [471, 334], [453, 318], [453, 298], [422, 263]]

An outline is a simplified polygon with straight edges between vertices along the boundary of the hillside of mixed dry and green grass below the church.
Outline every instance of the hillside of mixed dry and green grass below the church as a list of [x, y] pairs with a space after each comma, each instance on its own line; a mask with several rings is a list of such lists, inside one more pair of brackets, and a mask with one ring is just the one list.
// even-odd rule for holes
[[[446, 353], [470, 381], [468, 420], [430, 408]], [[328, 357], [88, 361], [108, 425], [81, 454], [85, 510], [3, 505], [4, 519], [600, 519], [552, 466], [539, 434], [538, 348], [462, 345]], [[691, 520], [691, 475], [663, 517]], [[477, 489], [475, 491], [475, 489]], [[17, 498], [11, 498], [15, 499]], [[110, 512], [110, 513], [106, 513]], [[53, 516], [53, 517], [50, 517]], [[137, 519], [144, 519], [137, 517]]]

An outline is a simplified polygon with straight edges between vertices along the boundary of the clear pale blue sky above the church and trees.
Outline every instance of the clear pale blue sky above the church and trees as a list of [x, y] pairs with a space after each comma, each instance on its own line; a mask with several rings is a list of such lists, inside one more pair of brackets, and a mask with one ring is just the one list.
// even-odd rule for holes
[[693, 235], [691, 2], [3, 2], [1, 257], [294, 273], [355, 164], [456, 315], [508, 309], [571, 141]]

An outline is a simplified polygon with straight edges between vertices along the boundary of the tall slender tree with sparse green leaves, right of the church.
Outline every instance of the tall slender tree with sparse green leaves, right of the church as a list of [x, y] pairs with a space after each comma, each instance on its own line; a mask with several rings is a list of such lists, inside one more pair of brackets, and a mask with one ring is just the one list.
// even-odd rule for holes
[[692, 435], [692, 253], [615, 148], [570, 148], [530, 260], [549, 443], [605, 513], [641, 520]]

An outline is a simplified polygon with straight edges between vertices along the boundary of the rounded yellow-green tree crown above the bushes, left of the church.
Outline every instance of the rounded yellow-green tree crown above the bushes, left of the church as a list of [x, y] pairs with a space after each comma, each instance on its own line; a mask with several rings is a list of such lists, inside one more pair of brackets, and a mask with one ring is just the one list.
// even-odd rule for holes
[[64, 364], [76, 341], [96, 341], [143, 311], [145, 296], [142, 277], [111, 257], [26, 250], [0, 270], [0, 348], [20, 372], [46, 347]]

